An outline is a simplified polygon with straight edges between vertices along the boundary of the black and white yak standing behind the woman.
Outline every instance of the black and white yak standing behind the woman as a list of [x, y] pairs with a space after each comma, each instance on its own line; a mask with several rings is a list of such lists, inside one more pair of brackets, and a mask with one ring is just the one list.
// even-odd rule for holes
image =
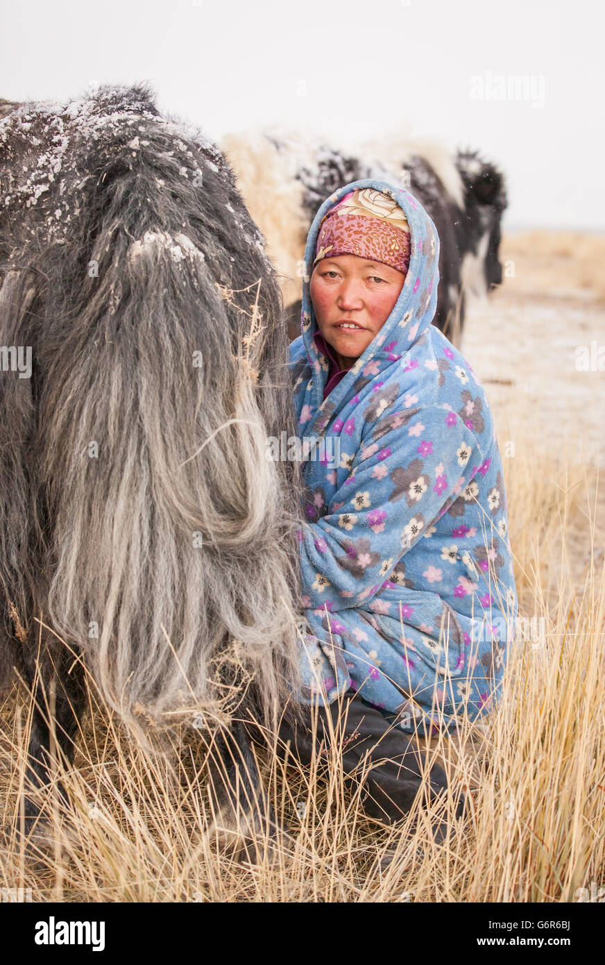
[[438, 143], [390, 137], [345, 151], [280, 128], [228, 135], [222, 147], [250, 212], [267, 239], [289, 306], [290, 338], [300, 335], [301, 266], [318, 207], [349, 181], [402, 184], [432, 218], [441, 242], [433, 324], [459, 342], [465, 296], [483, 296], [502, 281], [500, 222], [504, 178], [477, 152], [452, 156]]

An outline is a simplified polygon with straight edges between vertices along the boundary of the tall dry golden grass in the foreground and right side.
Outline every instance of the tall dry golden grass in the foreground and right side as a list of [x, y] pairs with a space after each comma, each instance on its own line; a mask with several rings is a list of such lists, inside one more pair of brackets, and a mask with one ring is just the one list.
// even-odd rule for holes
[[[520, 448], [527, 451], [527, 440]], [[125, 740], [91, 688], [91, 714], [65, 777], [69, 808], [55, 800], [55, 846], [36, 862], [18, 834], [28, 706], [15, 690], [0, 707], [0, 819], [9, 828], [0, 888], [64, 901], [556, 902], [601, 884], [603, 483], [546, 448], [531, 464], [505, 459], [505, 472], [521, 614], [536, 622], [511, 650], [483, 746], [465, 726], [428, 751], [446, 761], [448, 801], [429, 813], [419, 794], [407, 818], [388, 828], [364, 816], [359, 793], [345, 789], [338, 749], [307, 771], [264, 755], [266, 798], [288, 831], [235, 860], [208, 830], [211, 748], [202, 737], [151, 760]], [[580, 566], [579, 547], [588, 554]], [[471, 731], [474, 744], [461, 753]], [[460, 786], [470, 787], [472, 814], [464, 824], [451, 820], [448, 840], [437, 843], [430, 819], [438, 809], [451, 818]]]

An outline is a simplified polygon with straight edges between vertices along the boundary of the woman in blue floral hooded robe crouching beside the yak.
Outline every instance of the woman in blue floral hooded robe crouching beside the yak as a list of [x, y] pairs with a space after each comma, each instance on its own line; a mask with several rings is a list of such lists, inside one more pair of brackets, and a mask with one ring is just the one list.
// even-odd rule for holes
[[[364, 753], [375, 738], [381, 757], [399, 755], [396, 776], [371, 787], [381, 816], [398, 810], [412, 746], [401, 731], [454, 728], [493, 707], [517, 608], [489, 404], [430, 324], [438, 260], [435, 227], [409, 192], [344, 185], [311, 226], [302, 337], [290, 346], [300, 437], [318, 440], [304, 466], [299, 698], [323, 707], [323, 722], [344, 699]], [[310, 755], [308, 734], [294, 743]], [[399, 816], [420, 774], [407, 753]]]

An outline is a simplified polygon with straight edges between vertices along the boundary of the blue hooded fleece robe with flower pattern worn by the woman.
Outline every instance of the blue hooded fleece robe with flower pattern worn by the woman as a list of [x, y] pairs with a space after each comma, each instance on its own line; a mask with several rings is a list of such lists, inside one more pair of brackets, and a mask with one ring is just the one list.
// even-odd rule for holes
[[[371, 345], [323, 400], [309, 281], [319, 223], [356, 187], [384, 192], [410, 227], [398, 301]], [[303, 463], [299, 535], [307, 703], [353, 687], [400, 715], [453, 726], [498, 700], [517, 595], [502, 459], [472, 367], [431, 325], [439, 240], [405, 189], [365, 179], [319, 208], [307, 239], [302, 337], [290, 345], [301, 439], [334, 436], [339, 465]]]

